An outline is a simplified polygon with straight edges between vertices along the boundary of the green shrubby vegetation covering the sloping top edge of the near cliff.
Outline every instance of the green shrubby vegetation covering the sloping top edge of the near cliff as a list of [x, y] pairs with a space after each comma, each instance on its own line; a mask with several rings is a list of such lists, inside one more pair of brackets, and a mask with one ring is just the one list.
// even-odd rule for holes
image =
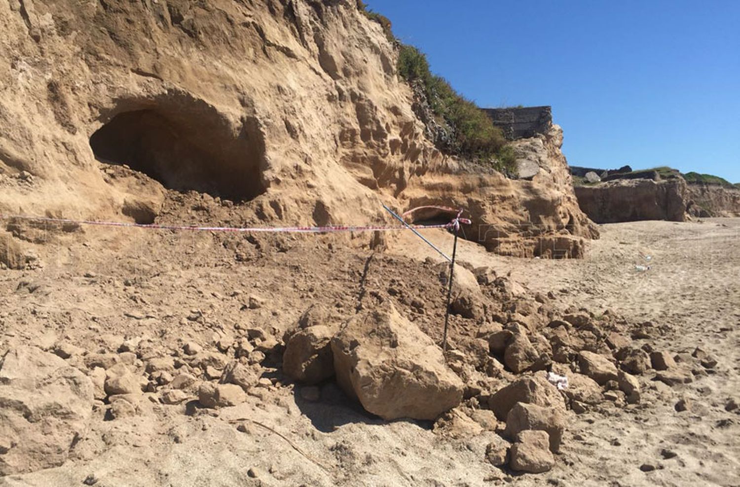
[[450, 126], [453, 143], [448, 149], [476, 160], [490, 160], [499, 171], [513, 170], [516, 158], [501, 130], [472, 101], [457, 93], [441, 76], [432, 75], [423, 52], [401, 44], [398, 75], [408, 82], [420, 81], [437, 121]]

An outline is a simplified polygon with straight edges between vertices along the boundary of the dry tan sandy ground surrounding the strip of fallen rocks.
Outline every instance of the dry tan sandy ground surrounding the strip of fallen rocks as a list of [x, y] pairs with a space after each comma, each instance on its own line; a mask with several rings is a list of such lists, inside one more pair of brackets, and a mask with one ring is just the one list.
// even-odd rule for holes
[[[171, 208], [161, 219], [202, 217], [202, 208], [192, 208]], [[645, 372], [639, 405], [604, 401], [580, 415], [569, 411], [555, 466], [544, 474], [488, 463], [493, 431], [445, 435], [428, 421], [381, 420], [331, 381], [315, 401], [314, 389], [290, 384], [268, 357], [263, 378], [272, 380], [237, 406], [144, 399], [135, 413], [111, 418], [110, 406], [97, 401], [67, 463], [0, 484], [740, 485], [740, 416], [731, 401], [740, 401], [740, 219], [621, 223], [601, 231], [580, 260], [500, 257], [471, 242], [461, 242], [459, 258], [499, 276], [511, 272], [519, 292], [551, 293], [558, 309], [652, 321], [658, 332], [639, 344], [684, 358], [701, 347], [718, 364], [694, 367], [693, 381], [676, 386]], [[394, 286], [425, 301], [414, 321], [432, 338], [441, 334], [439, 258], [408, 234], [389, 237], [388, 249], [375, 256], [368, 235], [244, 238], [90, 227], [24, 227], [21, 234], [36, 242], [22, 243], [43, 265], [0, 272], [2, 352], [67, 344], [89, 355], [124, 350], [131, 338], [148, 339], [164, 355], [187, 342], [214, 348], [244, 326], [280, 336], [315, 302], [351, 316], [379, 305], [378, 296]], [[451, 236], [430, 234], [451, 248]], [[465, 323], [453, 317], [453, 339]]]

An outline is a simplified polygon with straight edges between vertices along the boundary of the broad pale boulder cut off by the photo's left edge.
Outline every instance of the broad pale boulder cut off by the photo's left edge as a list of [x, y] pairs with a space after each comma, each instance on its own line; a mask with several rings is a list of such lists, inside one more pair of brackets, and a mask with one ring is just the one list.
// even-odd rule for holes
[[18, 347], [0, 361], [0, 475], [60, 466], [87, 432], [90, 378], [56, 355]]

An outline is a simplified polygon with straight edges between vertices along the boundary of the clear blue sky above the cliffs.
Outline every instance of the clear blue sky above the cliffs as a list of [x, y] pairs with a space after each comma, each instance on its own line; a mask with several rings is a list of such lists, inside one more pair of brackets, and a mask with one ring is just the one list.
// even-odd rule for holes
[[740, 183], [740, 1], [366, 3], [478, 105], [551, 105], [573, 166]]

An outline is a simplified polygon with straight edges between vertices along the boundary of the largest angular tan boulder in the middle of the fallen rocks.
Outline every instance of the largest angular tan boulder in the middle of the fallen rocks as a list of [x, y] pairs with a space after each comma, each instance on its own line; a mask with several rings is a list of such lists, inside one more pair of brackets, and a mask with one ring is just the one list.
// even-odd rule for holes
[[440, 347], [393, 307], [347, 321], [332, 352], [342, 389], [386, 420], [432, 420], [462, 401], [465, 385]]

